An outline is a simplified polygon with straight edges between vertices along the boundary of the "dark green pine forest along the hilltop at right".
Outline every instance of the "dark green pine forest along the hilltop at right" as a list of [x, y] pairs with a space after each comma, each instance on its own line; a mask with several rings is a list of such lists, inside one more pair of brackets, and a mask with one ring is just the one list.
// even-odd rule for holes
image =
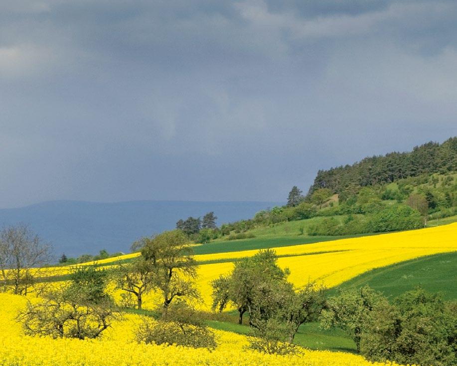
[[428, 142], [416, 146], [412, 152], [392, 152], [385, 156], [367, 157], [353, 165], [319, 170], [308, 196], [325, 187], [333, 193], [344, 193], [345, 201], [352, 195], [350, 192], [353, 187], [390, 183], [421, 174], [444, 174], [456, 170], [457, 137], [452, 137], [441, 145]]

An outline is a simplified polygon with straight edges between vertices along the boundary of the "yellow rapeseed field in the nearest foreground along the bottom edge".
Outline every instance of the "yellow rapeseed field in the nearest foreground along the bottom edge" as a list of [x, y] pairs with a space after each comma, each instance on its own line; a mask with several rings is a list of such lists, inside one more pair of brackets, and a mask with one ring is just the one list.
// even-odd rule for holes
[[397, 366], [371, 363], [352, 354], [308, 351], [295, 356], [264, 355], [244, 349], [247, 339], [216, 331], [218, 347], [210, 352], [176, 346], [138, 344], [134, 329], [136, 315], [127, 315], [99, 340], [28, 337], [14, 318], [26, 299], [0, 293], [0, 365], [2, 366]]

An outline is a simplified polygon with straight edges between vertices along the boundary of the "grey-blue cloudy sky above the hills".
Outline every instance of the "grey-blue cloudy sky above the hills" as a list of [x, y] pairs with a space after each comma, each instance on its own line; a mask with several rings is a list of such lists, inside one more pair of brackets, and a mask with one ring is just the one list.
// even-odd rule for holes
[[0, 208], [284, 201], [457, 135], [457, 2], [0, 0]]

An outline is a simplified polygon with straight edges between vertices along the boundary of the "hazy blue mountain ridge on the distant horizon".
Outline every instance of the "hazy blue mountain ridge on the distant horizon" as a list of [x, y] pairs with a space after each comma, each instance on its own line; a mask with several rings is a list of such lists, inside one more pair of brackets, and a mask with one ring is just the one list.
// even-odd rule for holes
[[203, 216], [214, 211], [217, 223], [249, 219], [260, 211], [284, 202], [195, 202], [129, 201], [95, 203], [50, 201], [36, 205], [0, 210], [0, 226], [25, 223], [44, 241], [50, 242], [56, 255], [78, 256], [129, 251], [143, 236], [174, 229], [176, 221]]

